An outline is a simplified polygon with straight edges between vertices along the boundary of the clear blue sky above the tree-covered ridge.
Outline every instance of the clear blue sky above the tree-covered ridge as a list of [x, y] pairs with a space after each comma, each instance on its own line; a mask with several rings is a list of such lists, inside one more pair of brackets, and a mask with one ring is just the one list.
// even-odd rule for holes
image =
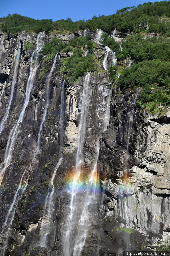
[[0, 0], [0, 17], [18, 13], [34, 19], [91, 19], [93, 15], [110, 15], [118, 9], [146, 3], [143, 0]]

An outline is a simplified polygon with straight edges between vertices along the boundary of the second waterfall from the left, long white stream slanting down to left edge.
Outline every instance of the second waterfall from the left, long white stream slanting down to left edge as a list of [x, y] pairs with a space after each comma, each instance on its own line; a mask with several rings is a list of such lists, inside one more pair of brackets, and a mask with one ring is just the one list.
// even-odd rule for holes
[[30, 93], [31, 93], [32, 87], [34, 85], [34, 77], [36, 75], [36, 71], [37, 71], [37, 68], [39, 65], [39, 55], [40, 55], [40, 51], [42, 50], [42, 47], [43, 47], [44, 37], [45, 37], [45, 31], [40, 32], [40, 34], [38, 34], [37, 47], [31, 56], [30, 75], [28, 77], [28, 81], [27, 81], [27, 85], [26, 85], [25, 102], [24, 102], [22, 111], [19, 115], [19, 118], [18, 118], [17, 122], [15, 123], [14, 127], [12, 128], [12, 130], [9, 134], [9, 137], [8, 137], [7, 147], [5, 150], [4, 162], [0, 166], [0, 169], [3, 166], [3, 168], [0, 171], [0, 185], [1, 185], [4, 173], [5, 173], [5, 170], [11, 164], [11, 161], [12, 161], [15, 141], [20, 132], [21, 123], [24, 119], [25, 110], [26, 110], [26, 107], [28, 106], [28, 103], [30, 100]]

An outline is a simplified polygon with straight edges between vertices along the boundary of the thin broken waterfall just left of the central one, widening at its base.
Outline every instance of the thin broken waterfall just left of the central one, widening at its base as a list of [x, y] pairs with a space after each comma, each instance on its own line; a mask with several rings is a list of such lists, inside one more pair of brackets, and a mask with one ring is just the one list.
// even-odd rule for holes
[[[61, 108], [60, 108], [60, 153], [63, 148], [63, 142], [64, 142], [64, 112], [65, 112], [65, 96], [64, 96], [64, 91], [65, 91], [65, 80], [62, 83], [62, 90], [61, 90]], [[48, 188], [48, 194], [46, 196], [45, 200], [45, 206], [44, 206], [44, 217], [42, 219], [42, 226], [40, 229], [40, 235], [41, 235], [41, 240], [40, 240], [40, 246], [45, 247], [45, 248], [52, 248], [54, 245], [55, 241], [55, 228], [54, 228], [54, 223], [52, 222], [53, 216], [54, 216], [54, 210], [55, 208], [52, 208], [52, 203], [54, 199], [54, 178], [56, 176], [56, 172], [58, 168], [60, 167], [62, 163], [63, 157], [60, 157], [56, 168], [54, 169], [54, 173], [52, 175], [52, 178], [50, 180], [50, 186]], [[50, 187], [52, 187], [52, 190], [50, 190]], [[47, 212], [47, 218], [45, 217], [45, 212]], [[49, 227], [49, 222], [50, 222], [50, 227]], [[53, 232], [54, 239], [53, 241], [51, 239], [48, 239], [49, 236], [52, 237], [51, 233]], [[50, 244], [49, 244], [50, 242]]]

